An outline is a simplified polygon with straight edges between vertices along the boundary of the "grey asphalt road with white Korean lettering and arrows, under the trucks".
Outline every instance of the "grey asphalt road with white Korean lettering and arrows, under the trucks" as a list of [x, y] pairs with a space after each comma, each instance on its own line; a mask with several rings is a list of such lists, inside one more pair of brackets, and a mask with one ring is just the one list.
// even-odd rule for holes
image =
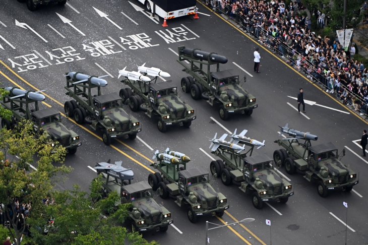
[[[131, 2], [144, 8], [136, 0]], [[161, 18], [159, 22], [149, 19], [136, 11], [128, 1], [76, 0], [68, 4], [64, 7], [46, 6], [30, 12], [25, 4], [16, 1], [2, 3], [2, 86], [20, 86], [26, 90], [45, 89], [49, 96], [45, 102], [64, 112], [64, 102], [70, 98], [65, 95], [66, 81], [63, 75], [69, 71], [69, 67], [88, 75], [111, 75], [105, 78], [109, 84], [102, 88], [103, 94], [118, 92], [124, 87], [117, 79], [118, 70], [127, 67], [129, 71], [137, 71], [137, 67], [143, 63], [168, 72], [170, 79], [180, 86], [180, 79], [187, 74], [181, 71], [182, 67], [176, 62], [177, 55], [174, 52], [177, 46], [186, 45], [227, 56], [229, 62], [222, 65], [221, 70], [234, 69], [243, 77], [246, 73], [233, 64], [236, 63], [251, 73], [253, 77], [247, 75], [247, 83], [243, 87], [257, 98], [259, 107], [251, 116], [238, 114], [222, 121], [217, 110], [206, 101], [194, 101], [189, 94], [181, 94], [181, 99], [195, 108], [197, 119], [190, 129], [172, 127], [165, 134], [160, 133], [156, 123], [143, 112], [132, 112], [126, 108], [128, 113], [141, 121], [142, 132], [138, 137], [145, 144], [138, 138], [134, 141], [120, 139], [114, 140], [111, 147], [103, 144], [100, 132], [94, 132], [88, 125], [81, 127], [72, 120], [64, 119], [65, 125], [80, 135], [82, 146], [75, 155], [67, 156], [65, 164], [75, 170], [69, 174], [68, 181], [60, 183], [59, 188], [72, 188], [76, 183], [87, 190], [91, 179], [96, 176], [88, 166], [93, 167], [96, 162], [107, 159], [123, 161], [123, 166], [134, 170], [135, 180], [146, 180], [149, 170], [153, 171], [149, 166], [153, 152], [146, 144], [154, 150], [169, 147], [185, 153], [192, 159], [189, 167], [204, 166], [209, 169], [211, 159], [200, 148], [210, 153], [210, 143], [206, 137], [226, 133], [224, 128], [231, 132], [234, 129], [238, 132], [247, 129], [248, 137], [266, 140], [266, 146], [255, 149], [254, 155], [268, 154], [272, 157], [274, 150], [279, 149], [273, 143], [279, 138], [278, 126], [288, 123], [291, 128], [317, 135], [319, 140], [314, 145], [332, 142], [340, 151], [345, 147], [352, 151], [346, 149], [342, 161], [359, 172], [359, 184], [353, 189], [355, 192], [336, 192], [321, 198], [316, 185], [310, 184], [301, 175], [288, 175], [282, 168], [280, 171], [291, 179], [295, 195], [286, 204], [271, 203], [271, 206], [265, 205], [262, 210], [257, 210], [252, 205], [250, 195], [244, 195], [234, 186], [225, 187], [218, 179], [214, 188], [223, 193], [230, 203], [222, 219], [201, 217], [198, 223], [192, 224], [184, 209], [170, 200], [158, 198], [157, 201], [172, 212], [174, 225], [181, 233], [170, 226], [166, 233], [152, 232], [143, 236], [161, 244], [196, 244], [205, 242], [206, 220], [221, 224], [252, 217], [256, 220], [244, 226], [235, 225], [210, 231], [211, 244], [270, 244], [270, 226], [265, 224], [266, 219], [271, 220], [273, 244], [344, 244], [345, 225], [336, 217], [342, 222], [346, 221], [346, 208], [342, 203], [347, 202], [347, 223], [351, 227], [347, 229], [347, 244], [368, 243], [368, 191], [365, 188], [368, 185], [368, 161], [358, 157], [361, 150], [353, 142], [360, 139], [363, 129], [368, 128], [364, 121], [351, 113], [315, 105], [306, 106], [305, 115], [310, 119], [297, 114], [287, 104], [289, 102], [296, 107], [296, 101], [287, 96], [296, 97], [300, 87], [304, 89], [304, 99], [330, 108], [348, 110], [264, 48], [260, 50], [261, 74], [255, 74], [252, 71], [253, 51], [258, 44], [200, 3], [197, 6], [199, 11], [209, 16], [200, 15], [198, 20], [193, 17], [172, 19], [167, 22], [167, 28], [161, 26]], [[93, 7], [107, 14], [115, 24], [100, 17]], [[63, 22], [63, 17], [67, 23]], [[17, 26], [16, 21], [25, 24]]]

